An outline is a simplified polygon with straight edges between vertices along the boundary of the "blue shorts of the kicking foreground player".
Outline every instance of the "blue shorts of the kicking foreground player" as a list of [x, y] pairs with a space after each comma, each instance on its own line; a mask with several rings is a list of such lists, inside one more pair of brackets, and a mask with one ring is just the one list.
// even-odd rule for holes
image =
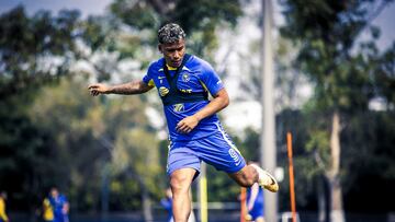
[[199, 140], [171, 142], [167, 173], [171, 175], [180, 168], [194, 168], [199, 174], [202, 161], [226, 173], [236, 173], [246, 165], [228, 135], [218, 130]]

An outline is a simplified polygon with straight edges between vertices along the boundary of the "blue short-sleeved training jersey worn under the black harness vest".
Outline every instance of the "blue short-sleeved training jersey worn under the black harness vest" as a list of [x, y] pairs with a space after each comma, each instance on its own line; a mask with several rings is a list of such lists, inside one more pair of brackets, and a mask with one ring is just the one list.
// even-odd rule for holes
[[[163, 63], [163, 58], [154, 61], [149, 66], [147, 74], [143, 78], [143, 82], [157, 87], [160, 97], [167, 96], [170, 90], [170, 83], [166, 78]], [[174, 77], [177, 71], [170, 67], [168, 67], [168, 69], [170, 77]], [[223, 87], [223, 82], [210, 63], [196, 56], [189, 57], [178, 73], [177, 90], [187, 96], [188, 94], [191, 94], [192, 96], [194, 93], [207, 91], [210, 94], [215, 95]], [[202, 119], [190, 133], [180, 133], [176, 130], [176, 126], [179, 121], [188, 116], [194, 115], [208, 103], [210, 101], [201, 100], [189, 103], [163, 104], [163, 112], [169, 129], [169, 139], [171, 141], [198, 140], [216, 132], [218, 130], [217, 126], [219, 125], [219, 120], [215, 114]]]

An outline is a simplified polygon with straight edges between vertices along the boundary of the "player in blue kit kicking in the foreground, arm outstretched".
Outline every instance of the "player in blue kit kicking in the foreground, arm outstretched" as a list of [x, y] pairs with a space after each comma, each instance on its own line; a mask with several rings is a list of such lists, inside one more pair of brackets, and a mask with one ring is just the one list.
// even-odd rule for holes
[[[222, 127], [217, 112], [229, 97], [217, 73], [205, 60], [185, 54], [185, 33], [174, 23], [158, 31], [163, 58], [154, 61], [143, 80], [117, 85], [89, 85], [91, 95], [140, 94], [153, 87], [162, 101], [169, 130], [167, 173], [173, 197], [176, 222], [187, 222], [191, 212], [189, 191], [202, 161], [226, 172], [240, 186], [255, 183], [278, 191], [273, 176], [246, 161]], [[208, 93], [212, 100], [208, 101]]]

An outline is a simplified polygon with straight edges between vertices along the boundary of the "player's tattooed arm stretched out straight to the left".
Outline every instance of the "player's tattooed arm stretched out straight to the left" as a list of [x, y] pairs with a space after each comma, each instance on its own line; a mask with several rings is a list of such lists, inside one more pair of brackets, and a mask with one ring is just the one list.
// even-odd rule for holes
[[117, 84], [117, 85], [105, 85], [102, 83], [95, 83], [88, 86], [88, 90], [90, 91], [91, 95], [97, 96], [100, 94], [123, 94], [123, 95], [131, 95], [131, 94], [142, 94], [154, 86], [147, 85], [142, 80], [138, 81], [132, 81], [124, 84]]

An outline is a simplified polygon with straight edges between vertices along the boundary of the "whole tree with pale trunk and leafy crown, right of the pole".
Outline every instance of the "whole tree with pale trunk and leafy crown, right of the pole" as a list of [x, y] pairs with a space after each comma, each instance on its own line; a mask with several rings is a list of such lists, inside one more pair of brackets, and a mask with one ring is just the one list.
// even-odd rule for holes
[[321, 126], [316, 125], [311, 148], [319, 150], [316, 160], [329, 184], [332, 221], [345, 221], [340, 180], [342, 125], [349, 114], [366, 109], [374, 96], [370, 77], [377, 63], [356, 45], [360, 33], [388, 2], [283, 1], [286, 24], [281, 33], [300, 45], [295, 66], [315, 84], [314, 109], [330, 117], [324, 118]]

